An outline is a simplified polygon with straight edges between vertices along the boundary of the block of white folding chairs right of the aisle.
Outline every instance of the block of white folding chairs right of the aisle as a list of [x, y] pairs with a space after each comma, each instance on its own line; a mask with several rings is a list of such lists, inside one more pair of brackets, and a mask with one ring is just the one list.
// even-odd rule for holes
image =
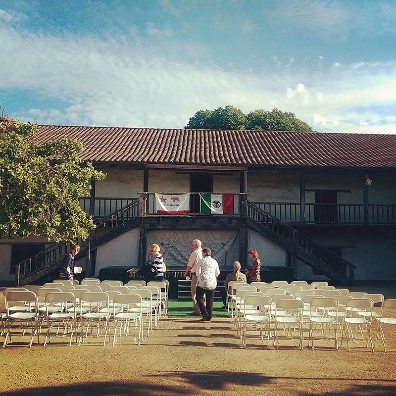
[[[290, 338], [292, 330], [296, 332], [299, 340], [298, 347], [302, 348], [303, 325], [308, 327], [308, 347], [314, 349], [314, 340], [332, 340], [334, 347], [338, 350], [345, 341], [348, 350], [356, 341], [365, 341], [365, 347], [374, 351], [376, 342], [380, 338], [387, 351], [385, 341], [395, 340], [386, 338], [384, 326], [396, 324], [393, 316], [388, 316], [389, 310], [395, 312], [396, 299], [384, 300], [383, 295], [363, 294], [355, 296], [324, 297], [320, 295], [307, 295], [294, 298], [278, 290], [267, 290], [265, 293], [256, 292], [255, 287], [239, 289], [236, 293], [234, 308], [234, 321], [237, 334], [241, 332], [242, 343], [246, 347], [246, 335], [248, 325], [254, 330], [259, 330], [261, 340], [270, 339], [270, 326], [274, 324], [274, 345], [279, 348], [279, 329], [282, 327], [283, 337]], [[281, 293], [279, 293], [281, 292]], [[257, 300], [254, 300], [257, 298]], [[257, 303], [261, 301], [261, 303]], [[265, 303], [262, 303], [265, 301]], [[376, 302], [380, 303], [377, 310], [374, 309]], [[371, 336], [371, 325], [373, 320], [377, 322], [375, 341]], [[319, 334], [318, 331], [319, 330]]]

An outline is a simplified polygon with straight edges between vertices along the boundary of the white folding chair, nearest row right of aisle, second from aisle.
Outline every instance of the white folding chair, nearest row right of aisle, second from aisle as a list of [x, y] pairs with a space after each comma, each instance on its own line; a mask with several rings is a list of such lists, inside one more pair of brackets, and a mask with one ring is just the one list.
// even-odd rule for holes
[[[303, 349], [302, 346], [302, 310], [304, 303], [301, 300], [295, 299], [284, 299], [281, 298], [276, 302], [275, 312], [275, 338], [274, 344], [279, 349], [279, 327], [282, 326], [282, 330], [287, 328], [286, 335], [283, 338], [293, 339], [293, 333], [297, 330], [298, 349]], [[284, 316], [279, 313], [287, 311], [289, 315]], [[278, 313], [279, 312], [279, 313]]]

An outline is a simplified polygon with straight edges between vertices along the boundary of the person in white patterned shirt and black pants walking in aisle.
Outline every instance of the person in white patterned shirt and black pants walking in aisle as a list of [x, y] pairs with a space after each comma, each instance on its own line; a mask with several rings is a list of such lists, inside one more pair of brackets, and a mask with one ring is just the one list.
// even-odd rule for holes
[[[217, 287], [217, 277], [220, 274], [218, 262], [211, 257], [209, 247], [202, 249], [202, 258], [199, 260], [196, 270], [197, 303], [203, 321], [210, 321], [213, 315], [213, 298]], [[206, 297], [206, 304], [203, 296]]]

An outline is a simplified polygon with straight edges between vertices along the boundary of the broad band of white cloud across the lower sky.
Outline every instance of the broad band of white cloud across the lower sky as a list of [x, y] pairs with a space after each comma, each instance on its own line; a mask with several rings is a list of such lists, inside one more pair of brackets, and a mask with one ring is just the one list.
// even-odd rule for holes
[[[12, 116], [46, 124], [182, 128], [198, 109], [233, 104], [244, 112], [291, 111], [319, 131], [396, 133], [395, 117], [371, 109], [396, 100], [396, 62], [363, 60], [296, 74], [273, 56], [278, 68], [227, 72], [210, 59], [188, 60], [192, 44], [179, 46], [176, 54], [160, 40], [134, 35], [132, 41], [98, 41], [0, 25], [0, 45], [7, 53], [0, 90], [38, 96], [29, 111]], [[54, 103], [40, 106], [41, 98]]]

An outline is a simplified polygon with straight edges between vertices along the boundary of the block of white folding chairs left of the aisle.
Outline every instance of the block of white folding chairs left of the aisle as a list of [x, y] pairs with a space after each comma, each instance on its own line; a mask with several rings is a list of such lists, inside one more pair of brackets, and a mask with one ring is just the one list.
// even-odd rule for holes
[[[73, 334], [76, 335], [76, 343], [81, 345], [88, 334], [92, 333], [94, 324], [98, 337], [104, 331], [104, 345], [107, 336], [110, 337], [110, 318], [113, 319], [113, 345], [117, 336], [121, 333], [127, 335], [131, 329], [139, 330], [136, 340], [140, 344], [144, 337], [144, 317], [147, 317], [147, 336], [152, 334], [153, 326], [157, 326], [161, 302], [160, 289], [156, 286], [142, 286], [139, 289], [133, 289], [131, 286], [128, 293], [124, 294], [116, 290], [102, 292], [75, 287], [61, 291], [56, 288], [36, 286], [36, 293], [27, 288], [4, 289], [6, 311], [1, 314], [3, 347], [12, 342], [13, 330], [20, 330], [17, 334], [24, 336], [28, 329], [31, 329], [31, 339], [27, 345], [32, 346], [35, 336], [40, 344], [41, 329], [45, 324], [47, 324], [45, 346], [50, 342], [55, 323], [57, 323], [55, 336], [61, 334], [65, 337], [66, 333], [70, 334], [69, 345]], [[90, 286], [86, 287], [90, 288]], [[131, 322], [134, 324], [132, 327]], [[79, 337], [77, 337], [77, 329], [80, 329]]]

